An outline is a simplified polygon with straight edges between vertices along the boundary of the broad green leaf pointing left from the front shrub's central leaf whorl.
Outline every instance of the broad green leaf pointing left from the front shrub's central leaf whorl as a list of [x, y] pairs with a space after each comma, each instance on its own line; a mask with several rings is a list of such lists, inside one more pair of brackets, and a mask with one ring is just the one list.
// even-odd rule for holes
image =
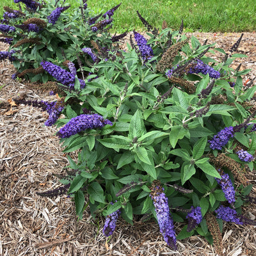
[[129, 144], [132, 142], [132, 140], [130, 140], [129, 138], [120, 135], [113, 135], [111, 137], [112, 138], [98, 139], [97, 141], [99, 141], [102, 145], [104, 145], [107, 148], [113, 148], [117, 152], [120, 148], [130, 148]]

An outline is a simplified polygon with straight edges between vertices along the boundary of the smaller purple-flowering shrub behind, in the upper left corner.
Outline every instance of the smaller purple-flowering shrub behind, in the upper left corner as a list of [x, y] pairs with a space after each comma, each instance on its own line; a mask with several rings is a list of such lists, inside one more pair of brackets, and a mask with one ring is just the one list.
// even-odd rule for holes
[[[20, 4], [20, 10], [4, 6], [5, 12], [0, 24], [1, 40], [10, 44], [9, 51], [16, 52], [16, 58], [12, 61], [17, 73], [13, 78], [25, 77], [31, 81], [45, 83], [52, 79], [52, 74], [48, 74], [40, 67], [42, 61], [51, 61], [52, 65], [57, 64], [64, 68], [63, 61], [68, 60], [74, 62], [76, 70], [79, 70], [80, 67], [86, 66], [86, 55], [81, 48], [92, 47], [91, 40], [97, 38], [106, 45], [112, 44], [105, 38], [109, 38], [108, 25], [113, 19], [106, 22], [106, 17], [112, 17], [120, 4], [105, 15], [90, 17], [86, 1], [81, 3], [78, 10], [72, 11], [69, 10], [69, 5], [63, 4], [65, 1], [14, 2]], [[92, 29], [93, 26], [97, 29]], [[3, 59], [1, 52], [0, 56]], [[84, 70], [79, 70], [77, 76], [83, 78], [83, 72]], [[73, 78], [75, 76], [76, 74]]]

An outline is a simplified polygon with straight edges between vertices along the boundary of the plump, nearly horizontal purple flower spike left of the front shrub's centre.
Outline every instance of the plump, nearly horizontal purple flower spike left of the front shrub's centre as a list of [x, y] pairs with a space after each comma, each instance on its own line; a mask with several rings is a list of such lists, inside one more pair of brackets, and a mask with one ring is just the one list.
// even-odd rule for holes
[[112, 123], [98, 114], [93, 115], [79, 115], [71, 118], [68, 123], [57, 132], [60, 138], [69, 138], [78, 132], [86, 129], [102, 128], [104, 125]]

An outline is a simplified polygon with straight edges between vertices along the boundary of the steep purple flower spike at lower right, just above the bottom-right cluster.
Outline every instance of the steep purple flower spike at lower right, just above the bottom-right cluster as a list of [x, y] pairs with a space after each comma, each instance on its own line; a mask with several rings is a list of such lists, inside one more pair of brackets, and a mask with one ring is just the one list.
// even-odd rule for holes
[[218, 179], [218, 178], [215, 178], [215, 179], [218, 182], [218, 184], [221, 186], [221, 189], [225, 194], [225, 198], [227, 199], [228, 203], [234, 204], [234, 202], [236, 202], [236, 199], [235, 199], [236, 191], [234, 189], [232, 181], [230, 180], [228, 173], [225, 173], [220, 169], [218, 170], [218, 172], [220, 173], [221, 179]]

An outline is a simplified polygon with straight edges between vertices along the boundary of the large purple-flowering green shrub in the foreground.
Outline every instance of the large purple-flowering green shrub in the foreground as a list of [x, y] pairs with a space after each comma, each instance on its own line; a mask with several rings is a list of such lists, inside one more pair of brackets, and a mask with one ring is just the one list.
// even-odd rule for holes
[[[112, 13], [104, 18], [111, 19]], [[51, 20], [58, 15], [60, 11], [54, 12]], [[245, 175], [255, 168], [251, 100], [256, 86], [243, 87], [241, 76], [250, 70], [229, 67], [244, 57], [232, 53], [243, 35], [228, 54], [182, 35], [182, 26], [158, 31], [138, 15], [149, 40], [134, 31], [128, 51], [111, 44], [120, 35], [68, 53], [72, 63], [82, 52], [92, 58], [90, 65], [80, 67], [90, 74], [84, 81], [74, 76], [74, 65], [68, 72], [40, 60], [67, 94], [65, 104], [56, 104], [65, 115], [56, 121], [61, 127], [56, 136], [63, 152], [78, 150], [78, 159], [68, 157], [74, 171], [63, 177], [60, 189], [38, 195], [68, 193], [81, 219], [88, 194], [92, 216], [106, 216], [105, 236], [113, 234], [119, 216], [132, 225], [134, 214], [145, 215], [156, 218], [173, 250], [177, 239], [199, 234], [221, 254], [223, 220], [253, 223], [241, 215], [241, 205], [255, 202], [248, 196], [252, 185]], [[97, 19], [88, 22], [91, 33], [108, 23], [95, 24]], [[77, 35], [77, 45], [79, 40]], [[223, 58], [209, 58], [208, 51], [220, 51]], [[39, 106], [47, 111], [51, 106], [51, 115], [55, 105]], [[54, 118], [58, 115], [54, 112]], [[184, 223], [179, 234], [177, 222]]]

